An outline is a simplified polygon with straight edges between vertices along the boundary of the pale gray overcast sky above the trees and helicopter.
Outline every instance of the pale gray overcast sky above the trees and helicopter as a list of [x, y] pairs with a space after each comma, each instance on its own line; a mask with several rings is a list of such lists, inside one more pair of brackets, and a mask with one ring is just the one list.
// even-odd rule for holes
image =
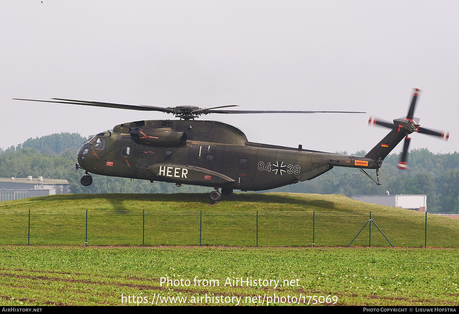
[[[7, 148], [172, 115], [11, 98], [367, 114], [211, 114], [249, 141], [369, 151], [389, 131], [369, 115], [407, 114], [411, 147], [454, 152], [459, 136], [457, 1], [1, 1], [0, 97]], [[403, 148], [403, 142], [395, 151]]]

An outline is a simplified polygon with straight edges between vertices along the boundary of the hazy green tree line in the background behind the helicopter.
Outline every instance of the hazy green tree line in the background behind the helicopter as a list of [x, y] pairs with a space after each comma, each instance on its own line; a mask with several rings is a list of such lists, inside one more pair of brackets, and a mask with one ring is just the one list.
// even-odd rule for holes
[[[89, 138], [89, 137], [88, 137]], [[75, 171], [76, 153], [88, 138], [78, 133], [56, 133], [29, 138], [6, 150], [0, 148], [0, 177], [50, 177], [66, 179], [71, 193], [202, 193], [212, 188], [145, 180], [92, 175], [93, 184], [84, 187]], [[347, 154], [347, 152], [336, 152]], [[365, 151], [353, 155], [364, 156]], [[428, 211], [459, 212], [459, 153], [432, 153], [427, 148], [412, 149], [408, 170], [396, 168], [399, 154], [386, 157], [379, 171], [378, 186], [355, 168], [334, 167], [313, 180], [291, 184], [276, 191], [317, 194], [425, 194]], [[375, 171], [368, 170], [375, 178]]]

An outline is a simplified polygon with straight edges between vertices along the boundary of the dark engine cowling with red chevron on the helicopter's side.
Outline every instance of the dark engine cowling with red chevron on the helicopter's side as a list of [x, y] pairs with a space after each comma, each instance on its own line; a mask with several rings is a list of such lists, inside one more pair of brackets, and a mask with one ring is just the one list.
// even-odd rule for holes
[[180, 147], [186, 144], [185, 132], [134, 127], [129, 134], [135, 142], [151, 147]]

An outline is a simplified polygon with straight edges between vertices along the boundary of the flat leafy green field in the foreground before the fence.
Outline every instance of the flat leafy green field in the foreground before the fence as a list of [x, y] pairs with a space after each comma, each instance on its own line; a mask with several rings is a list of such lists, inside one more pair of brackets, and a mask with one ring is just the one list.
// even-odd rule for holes
[[[246, 297], [265, 294], [331, 295], [336, 305], [457, 305], [458, 254], [458, 249], [2, 246], [0, 304], [122, 305], [122, 294], [151, 302], [158, 293], [188, 301], [207, 293], [241, 297], [242, 305]], [[161, 286], [161, 277], [191, 284]], [[220, 285], [195, 286], [195, 277]], [[228, 277], [281, 285], [224, 286]], [[283, 280], [299, 285], [282, 286]]]

